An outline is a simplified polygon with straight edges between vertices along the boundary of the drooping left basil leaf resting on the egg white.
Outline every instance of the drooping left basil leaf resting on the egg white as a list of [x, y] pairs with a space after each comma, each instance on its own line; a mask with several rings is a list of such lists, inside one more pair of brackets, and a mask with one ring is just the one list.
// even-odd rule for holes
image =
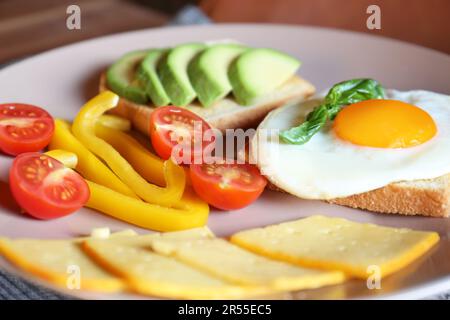
[[327, 106], [322, 104], [306, 116], [306, 121], [297, 127], [282, 131], [280, 138], [290, 144], [308, 142], [325, 125], [328, 119]]

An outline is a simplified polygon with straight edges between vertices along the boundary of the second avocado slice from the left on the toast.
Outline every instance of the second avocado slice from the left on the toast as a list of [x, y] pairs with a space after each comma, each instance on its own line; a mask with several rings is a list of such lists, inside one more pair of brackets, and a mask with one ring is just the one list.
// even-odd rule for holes
[[142, 83], [145, 92], [157, 107], [166, 106], [170, 103], [170, 98], [164, 90], [157, 73], [157, 65], [168, 49], [153, 49], [145, 56], [139, 66], [137, 77]]

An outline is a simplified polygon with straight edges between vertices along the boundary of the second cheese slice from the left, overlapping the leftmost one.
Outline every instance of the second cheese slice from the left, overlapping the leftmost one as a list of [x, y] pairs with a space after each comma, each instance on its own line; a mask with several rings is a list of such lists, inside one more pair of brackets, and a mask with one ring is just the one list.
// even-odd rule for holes
[[219, 299], [253, 296], [261, 288], [235, 286], [202, 273], [174, 258], [154, 253], [150, 240], [158, 235], [130, 241], [92, 239], [85, 242], [87, 252], [105, 268], [126, 279], [130, 288], [146, 295], [166, 298]]

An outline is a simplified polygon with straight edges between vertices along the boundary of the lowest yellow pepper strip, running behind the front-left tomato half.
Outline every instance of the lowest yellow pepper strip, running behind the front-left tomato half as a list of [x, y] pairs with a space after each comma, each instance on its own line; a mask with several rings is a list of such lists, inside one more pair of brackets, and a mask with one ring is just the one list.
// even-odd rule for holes
[[[74, 167], [77, 156], [65, 150], [53, 150], [47, 155]], [[208, 204], [186, 188], [182, 199], [173, 208], [149, 204], [128, 197], [107, 187], [86, 180], [90, 198], [86, 206], [136, 226], [156, 231], [177, 231], [204, 226], [208, 220]]]

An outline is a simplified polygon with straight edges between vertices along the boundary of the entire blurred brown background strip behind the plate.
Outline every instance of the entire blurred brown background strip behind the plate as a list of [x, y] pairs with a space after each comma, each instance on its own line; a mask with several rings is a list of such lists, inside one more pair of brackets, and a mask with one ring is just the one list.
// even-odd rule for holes
[[[81, 30], [65, 27], [71, 4], [81, 8]], [[372, 4], [381, 8], [381, 30], [366, 27], [366, 9]], [[174, 19], [339, 28], [450, 54], [450, 0], [0, 0], [0, 64], [88, 38], [163, 26]]]

